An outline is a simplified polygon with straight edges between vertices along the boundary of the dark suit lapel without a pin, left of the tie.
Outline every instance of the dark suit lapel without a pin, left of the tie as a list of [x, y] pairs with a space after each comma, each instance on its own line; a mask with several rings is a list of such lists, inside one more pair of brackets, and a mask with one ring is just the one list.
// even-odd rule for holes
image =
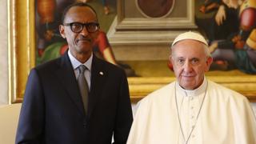
[[82, 98], [79, 93], [78, 82], [76, 81], [74, 70], [68, 57], [67, 52], [62, 56], [60, 61], [60, 68], [56, 70], [56, 76], [64, 86], [74, 105], [78, 107], [78, 110], [84, 113]]

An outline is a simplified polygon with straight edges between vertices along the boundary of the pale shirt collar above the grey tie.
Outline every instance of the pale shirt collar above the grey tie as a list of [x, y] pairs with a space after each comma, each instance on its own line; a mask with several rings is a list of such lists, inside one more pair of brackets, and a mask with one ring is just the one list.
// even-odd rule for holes
[[76, 58], [74, 58], [74, 56], [70, 53], [70, 50], [68, 50], [68, 55], [70, 57], [70, 62], [72, 64], [74, 70], [76, 70], [78, 68], [78, 66], [84, 65], [87, 67], [88, 70], [91, 71], [91, 63], [92, 63], [94, 54], [90, 54], [90, 58], [85, 63], [81, 63]]

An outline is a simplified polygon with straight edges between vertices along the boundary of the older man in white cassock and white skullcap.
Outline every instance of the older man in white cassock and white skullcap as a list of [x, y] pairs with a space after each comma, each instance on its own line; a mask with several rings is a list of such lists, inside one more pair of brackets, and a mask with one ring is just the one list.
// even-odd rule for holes
[[204, 38], [187, 32], [175, 42], [177, 80], [138, 103], [127, 144], [256, 144], [247, 98], [204, 76], [212, 60]]

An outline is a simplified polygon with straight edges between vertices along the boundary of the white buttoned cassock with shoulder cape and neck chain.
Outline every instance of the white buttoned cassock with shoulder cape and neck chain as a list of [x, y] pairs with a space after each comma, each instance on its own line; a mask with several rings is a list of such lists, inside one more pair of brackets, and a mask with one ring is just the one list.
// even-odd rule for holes
[[184, 90], [178, 82], [172, 82], [139, 102], [127, 144], [186, 141], [256, 144], [256, 119], [250, 102], [206, 78], [196, 90]]

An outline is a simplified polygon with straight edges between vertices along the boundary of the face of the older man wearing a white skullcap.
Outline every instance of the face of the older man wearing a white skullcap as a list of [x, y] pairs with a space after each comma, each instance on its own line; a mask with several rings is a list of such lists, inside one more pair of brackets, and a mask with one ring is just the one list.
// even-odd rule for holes
[[202, 84], [204, 73], [209, 70], [212, 58], [207, 58], [204, 44], [195, 40], [182, 40], [172, 48], [170, 60], [178, 83], [186, 90]]

